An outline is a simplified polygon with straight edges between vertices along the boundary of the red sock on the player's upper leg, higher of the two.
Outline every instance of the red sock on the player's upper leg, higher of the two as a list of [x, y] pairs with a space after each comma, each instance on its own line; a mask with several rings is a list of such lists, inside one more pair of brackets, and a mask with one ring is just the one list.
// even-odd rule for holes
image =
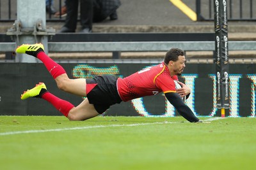
[[44, 63], [45, 67], [54, 79], [60, 76], [61, 74], [66, 73], [65, 69], [63, 69], [63, 67], [61, 67], [60, 64], [57, 64], [54, 60], [48, 57], [46, 53], [39, 52], [36, 57]]

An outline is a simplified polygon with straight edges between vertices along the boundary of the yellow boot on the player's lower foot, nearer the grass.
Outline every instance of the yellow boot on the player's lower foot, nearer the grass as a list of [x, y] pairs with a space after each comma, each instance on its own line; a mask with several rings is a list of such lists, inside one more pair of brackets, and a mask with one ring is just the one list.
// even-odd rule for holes
[[44, 83], [40, 82], [33, 89], [24, 91], [23, 94], [20, 96], [20, 99], [24, 100], [28, 99], [29, 97], [41, 98], [45, 92], [47, 92], [47, 88]]

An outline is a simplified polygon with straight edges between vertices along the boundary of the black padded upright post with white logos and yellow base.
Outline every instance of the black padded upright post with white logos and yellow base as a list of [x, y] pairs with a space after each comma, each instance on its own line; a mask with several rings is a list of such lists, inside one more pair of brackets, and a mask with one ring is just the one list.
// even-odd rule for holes
[[225, 117], [225, 109], [229, 108], [228, 24], [226, 0], [214, 1], [214, 25], [216, 37], [217, 108], [221, 109], [221, 117]]

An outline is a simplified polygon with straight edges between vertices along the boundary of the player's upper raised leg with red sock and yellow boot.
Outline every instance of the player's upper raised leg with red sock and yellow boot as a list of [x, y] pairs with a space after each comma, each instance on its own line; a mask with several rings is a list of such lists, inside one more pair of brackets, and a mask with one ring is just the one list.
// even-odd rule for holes
[[59, 89], [78, 96], [86, 96], [86, 80], [83, 78], [74, 80], [68, 78], [65, 69], [46, 55], [42, 44], [21, 45], [16, 49], [16, 52], [27, 53], [40, 59], [54, 80], [56, 80]]

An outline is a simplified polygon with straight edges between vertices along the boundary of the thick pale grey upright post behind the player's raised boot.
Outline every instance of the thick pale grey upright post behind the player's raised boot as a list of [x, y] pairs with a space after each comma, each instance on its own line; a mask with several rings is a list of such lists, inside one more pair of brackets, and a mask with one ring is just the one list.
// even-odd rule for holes
[[[38, 20], [42, 20], [42, 27], [45, 29], [45, 16], [45, 1], [17, 0], [17, 20], [19, 20], [21, 23], [21, 30], [35, 29], [35, 24]], [[22, 45], [34, 43], [44, 44], [45, 52], [48, 52], [47, 36], [35, 36], [33, 33], [22, 34], [19, 35], [19, 41], [16, 44]], [[15, 60], [16, 62], [38, 62], [38, 60], [35, 57], [23, 53], [18, 53]]]

